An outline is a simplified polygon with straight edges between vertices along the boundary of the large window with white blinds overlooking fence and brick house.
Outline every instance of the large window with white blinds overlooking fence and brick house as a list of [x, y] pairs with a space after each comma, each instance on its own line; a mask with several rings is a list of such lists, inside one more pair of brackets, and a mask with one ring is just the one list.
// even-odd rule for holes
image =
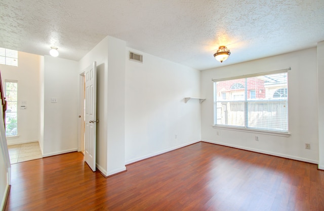
[[287, 70], [214, 80], [214, 125], [288, 132]]

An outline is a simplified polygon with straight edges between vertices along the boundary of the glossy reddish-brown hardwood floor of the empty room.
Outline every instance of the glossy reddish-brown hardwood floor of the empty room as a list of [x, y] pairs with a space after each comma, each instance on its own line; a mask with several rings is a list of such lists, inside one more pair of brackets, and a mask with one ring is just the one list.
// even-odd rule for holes
[[12, 165], [6, 210], [324, 210], [317, 165], [197, 143], [104, 178], [81, 153]]

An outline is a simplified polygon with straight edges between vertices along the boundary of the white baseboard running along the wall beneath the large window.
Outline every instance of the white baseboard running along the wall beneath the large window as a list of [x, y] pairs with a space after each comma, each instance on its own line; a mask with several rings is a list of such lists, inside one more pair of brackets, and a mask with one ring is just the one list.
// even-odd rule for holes
[[222, 146], [226, 146], [226, 147], [233, 147], [233, 148], [237, 148], [237, 149], [241, 149], [241, 150], [248, 150], [248, 151], [252, 151], [252, 152], [258, 152], [258, 153], [262, 153], [262, 154], [266, 154], [266, 155], [273, 155], [273, 156], [277, 156], [277, 157], [289, 158], [289, 159], [292, 159], [292, 160], [298, 160], [298, 161], [304, 161], [304, 162], [308, 162], [308, 163], [318, 164], [317, 160], [310, 160], [310, 159], [306, 159], [306, 158], [301, 158], [301, 157], [296, 157], [296, 156], [291, 156], [291, 155], [285, 155], [285, 154], [280, 154], [280, 153], [274, 153], [274, 152], [269, 152], [269, 151], [264, 151], [264, 150], [258, 150], [258, 149], [249, 148], [249, 147], [241, 147], [241, 146], [230, 145], [230, 144], [221, 143], [221, 142], [214, 142], [213, 140], [201, 140], [201, 141], [211, 143], [211, 144], [222, 145]]

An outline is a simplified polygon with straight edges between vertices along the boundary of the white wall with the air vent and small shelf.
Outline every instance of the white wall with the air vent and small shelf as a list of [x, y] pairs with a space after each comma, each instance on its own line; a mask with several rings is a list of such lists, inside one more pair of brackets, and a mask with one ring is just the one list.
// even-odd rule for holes
[[199, 100], [184, 102], [200, 96], [199, 80], [195, 69], [126, 48], [126, 163], [200, 141]]

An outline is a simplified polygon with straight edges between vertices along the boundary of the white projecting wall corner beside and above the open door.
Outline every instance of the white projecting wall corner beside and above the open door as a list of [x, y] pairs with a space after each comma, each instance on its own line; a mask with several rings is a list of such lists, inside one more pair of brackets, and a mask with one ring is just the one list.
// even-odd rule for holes
[[126, 42], [107, 36], [79, 61], [79, 73], [97, 62], [96, 166], [106, 176], [125, 167]]

